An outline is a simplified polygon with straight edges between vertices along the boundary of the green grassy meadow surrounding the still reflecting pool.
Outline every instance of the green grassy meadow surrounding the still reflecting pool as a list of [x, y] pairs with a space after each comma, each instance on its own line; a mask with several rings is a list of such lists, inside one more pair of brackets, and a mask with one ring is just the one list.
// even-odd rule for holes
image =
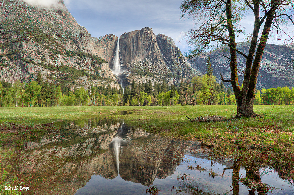
[[[273, 166], [294, 179], [294, 106], [254, 106], [263, 118], [235, 119], [236, 106], [101, 106], [0, 108], [0, 159], [4, 150], [50, 133], [42, 124], [106, 115], [130, 126], [163, 136], [202, 141], [216, 155]], [[120, 111], [133, 111], [120, 115]], [[118, 113], [118, 114], [117, 114]], [[199, 116], [221, 115], [221, 122], [190, 122]], [[6, 149], [5, 149], [6, 148]], [[2, 155], [2, 156], [1, 156]], [[10, 157], [13, 158], [13, 157]], [[0, 162], [1, 164], [1, 162]], [[7, 164], [8, 165], [8, 164]], [[1, 165], [0, 165], [1, 166]], [[3, 166], [2, 170], [7, 167]]]

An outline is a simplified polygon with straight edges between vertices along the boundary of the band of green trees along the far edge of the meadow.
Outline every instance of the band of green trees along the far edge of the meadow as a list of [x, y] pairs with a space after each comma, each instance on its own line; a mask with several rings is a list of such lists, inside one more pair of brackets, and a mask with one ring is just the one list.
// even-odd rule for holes
[[[242, 88], [242, 85], [240, 86]], [[294, 87], [277, 87], [257, 90], [256, 105], [294, 104]], [[230, 87], [216, 83], [213, 74], [196, 76], [189, 83], [167, 86], [146, 80], [136, 84], [133, 80], [124, 91], [107, 86], [73, 88], [43, 81], [38, 72], [37, 79], [29, 83], [20, 80], [0, 82], [0, 107], [24, 106], [117, 106], [117, 105], [235, 105], [235, 96]]]

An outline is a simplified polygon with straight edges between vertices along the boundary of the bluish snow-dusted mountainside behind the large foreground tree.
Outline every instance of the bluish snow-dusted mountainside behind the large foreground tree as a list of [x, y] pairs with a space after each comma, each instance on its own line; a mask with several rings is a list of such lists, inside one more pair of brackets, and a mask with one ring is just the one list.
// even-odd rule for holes
[[[240, 43], [238, 44], [238, 48], [240, 51], [247, 54], [250, 45]], [[230, 63], [228, 59], [224, 57], [230, 56], [229, 48], [220, 48], [213, 52], [202, 54], [198, 57], [189, 59], [188, 62], [194, 69], [205, 74], [208, 55], [210, 56], [213, 74], [217, 77], [218, 82], [221, 80], [219, 73], [223, 75], [224, 79], [230, 79]], [[267, 44], [260, 64], [259, 74], [261, 76], [257, 78], [257, 89], [276, 88], [279, 86], [288, 86], [291, 89], [294, 87], [293, 60], [294, 49], [292, 45], [286, 47]], [[245, 71], [246, 59], [242, 55], [237, 54], [237, 64], [239, 83], [242, 84], [244, 78], [242, 71]], [[230, 86], [229, 83], [228, 86]]]

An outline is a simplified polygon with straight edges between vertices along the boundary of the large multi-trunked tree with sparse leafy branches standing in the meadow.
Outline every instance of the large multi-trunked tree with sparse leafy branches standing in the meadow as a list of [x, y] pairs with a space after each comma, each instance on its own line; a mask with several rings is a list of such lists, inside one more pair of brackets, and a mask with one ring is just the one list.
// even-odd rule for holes
[[[238, 116], [260, 116], [253, 112], [256, 91], [256, 80], [260, 62], [264, 53], [271, 28], [276, 29], [277, 38], [284, 33], [282, 27], [293, 22], [294, 0], [184, 0], [181, 4], [182, 17], [188, 16], [197, 20], [198, 27], [188, 32], [189, 43], [195, 47], [191, 56], [210, 49], [212, 45], [224, 44], [230, 49], [231, 78], [230, 82], [236, 97]], [[240, 27], [242, 19], [252, 12], [254, 24], [251, 34]], [[283, 25], [281, 25], [283, 24]], [[262, 30], [261, 30], [262, 28]], [[248, 30], [248, 29], [246, 29]], [[236, 44], [236, 36], [244, 34], [251, 37], [249, 52], [243, 53]], [[293, 35], [288, 35], [293, 40]], [[257, 49], [256, 49], [257, 47]], [[238, 81], [237, 53], [246, 59], [243, 89]]]

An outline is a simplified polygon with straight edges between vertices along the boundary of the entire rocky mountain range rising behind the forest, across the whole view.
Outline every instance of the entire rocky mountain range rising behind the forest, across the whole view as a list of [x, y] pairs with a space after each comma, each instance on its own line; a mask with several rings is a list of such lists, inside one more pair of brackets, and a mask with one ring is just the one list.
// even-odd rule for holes
[[[240, 43], [241, 51], [249, 44]], [[119, 55], [115, 55], [119, 51]], [[63, 0], [57, 6], [40, 7], [22, 0], [0, 2], [0, 79], [29, 82], [41, 72], [50, 82], [86, 87], [120, 87], [137, 83], [178, 85], [206, 72], [210, 55], [213, 73], [230, 78], [228, 48], [219, 48], [186, 59], [172, 38], [155, 35], [151, 28], [127, 32], [119, 38], [107, 34], [93, 38], [70, 14]], [[115, 63], [119, 57], [119, 64]], [[238, 56], [240, 80], [245, 59]], [[294, 87], [294, 50], [291, 45], [268, 45], [260, 67], [258, 88]], [[120, 72], [112, 71], [119, 66]], [[115, 73], [115, 74], [114, 74]]]

